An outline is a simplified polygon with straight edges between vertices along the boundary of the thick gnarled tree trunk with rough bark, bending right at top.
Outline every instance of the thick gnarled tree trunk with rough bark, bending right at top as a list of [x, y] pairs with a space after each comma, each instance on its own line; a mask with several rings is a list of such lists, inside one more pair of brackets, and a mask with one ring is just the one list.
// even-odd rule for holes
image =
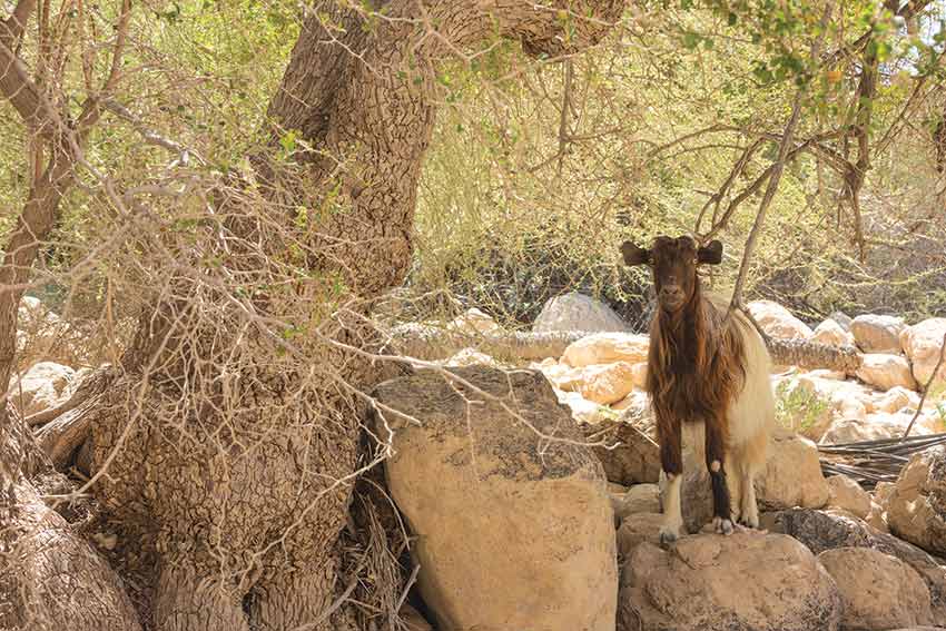
[[[255, 157], [250, 188], [265, 210], [240, 210], [250, 194], [225, 196], [219, 224], [175, 252], [177, 275], [92, 422], [93, 492], [125, 545], [154, 542], [160, 631], [351, 628], [334, 602], [345, 586], [338, 535], [369, 464], [359, 393], [380, 377], [357, 351], [373, 339], [358, 316], [407, 270], [436, 63], [490, 37], [533, 53], [577, 50], [623, 8], [394, 0], [366, 17], [348, 4], [308, 11], [270, 105], [274, 144], [295, 130], [313, 150], [295, 166]], [[295, 224], [298, 207], [309, 224]], [[289, 237], [314, 278], [298, 292], [267, 284]], [[207, 282], [208, 255], [224, 260], [217, 277], [252, 276], [259, 290], [243, 299]], [[345, 315], [319, 310], [342, 299], [332, 286], [345, 288]], [[302, 335], [287, 344], [290, 327]]]

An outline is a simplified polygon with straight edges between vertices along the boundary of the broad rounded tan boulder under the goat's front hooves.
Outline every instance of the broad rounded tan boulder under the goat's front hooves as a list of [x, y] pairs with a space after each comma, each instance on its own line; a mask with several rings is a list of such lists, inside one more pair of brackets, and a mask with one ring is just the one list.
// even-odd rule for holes
[[790, 536], [644, 542], [623, 565], [618, 631], [835, 631], [840, 618], [835, 581]]

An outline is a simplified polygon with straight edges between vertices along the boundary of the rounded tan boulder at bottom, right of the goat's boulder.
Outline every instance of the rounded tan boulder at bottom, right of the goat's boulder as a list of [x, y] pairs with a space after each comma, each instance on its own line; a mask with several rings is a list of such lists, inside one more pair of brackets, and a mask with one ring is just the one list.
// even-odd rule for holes
[[933, 622], [929, 589], [896, 556], [869, 548], [839, 548], [820, 553], [818, 561], [841, 594], [842, 629], [887, 631]]

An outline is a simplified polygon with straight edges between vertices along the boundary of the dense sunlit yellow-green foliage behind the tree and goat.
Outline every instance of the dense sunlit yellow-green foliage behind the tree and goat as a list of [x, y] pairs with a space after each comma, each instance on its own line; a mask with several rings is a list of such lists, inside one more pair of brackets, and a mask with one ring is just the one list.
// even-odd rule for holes
[[[31, 71], [79, 102], [89, 66], [100, 75], [110, 63], [105, 55], [88, 59], [92, 33], [105, 41], [117, 8], [80, 13], [50, 2], [46, 10], [56, 19], [43, 37], [78, 43], [62, 58], [30, 59]], [[715, 231], [727, 245], [713, 279], [725, 289], [797, 100], [747, 295], [782, 300], [812, 321], [838, 308], [911, 319], [942, 313], [943, 13], [928, 1], [642, 1], [603, 45], [573, 59], [530, 58], [515, 42], [459, 51], [438, 69], [442, 107], [411, 285], [521, 323], [549, 296], [579, 288], [639, 323], [646, 282], [618, 267], [617, 245]], [[114, 99], [125, 115], [107, 109], [93, 130], [87, 157], [100, 177], [85, 174], [85, 186], [70, 191], [33, 293], [100, 313], [104, 278], [112, 276], [107, 257], [78, 279], [75, 272], [112, 230], [105, 179], [119, 189], [168, 179], [168, 152], [142, 142], [141, 129], [188, 149], [175, 164], [176, 186], [189, 178], [209, 189], [248, 172], [298, 24], [299, 7], [279, 0], [132, 11]], [[0, 227], [9, 229], [36, 156], [7, 105], [0, 125]], [[279, 149], [287, 158], [300, 149], [293, 130]], [[191, 219], [173, 225], [187, 230]], [[115, 290], [132, 295], [131, 276], [119, 276], [126, 286]]]

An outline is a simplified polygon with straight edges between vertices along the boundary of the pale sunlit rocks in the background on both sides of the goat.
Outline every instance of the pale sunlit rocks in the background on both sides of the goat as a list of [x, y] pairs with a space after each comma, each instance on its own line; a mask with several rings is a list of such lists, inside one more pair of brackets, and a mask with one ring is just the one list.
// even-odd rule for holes
[[[780, 420], [787, 428], [826, 444], [903, 435], [917, 412], [918, 391], [939, 358], [946, 318], [908, 326], [893, 316], [850, 319], [835, 314], [812, 329], [770, 300], [750, 303], [748, 308], [772, 337], [856, 345], [863, 353], [863, 365], [853, 375], [775, 366], [772, 386], [781, 400]], [[556, 317], [573, 322], [563, 314]], [[647, 405], [648, 343], [648, 336], [641, 334], [594, 333], [570, 345], [561, 357], [531, 367], [545, 374], [577, 418], [598, 423]], [[943, 391], [940, 383], [946, 383], [946, 366], [934, 381], [934, 396], [925, 402], [913, 434], [946, 431], [946, 404], [942, 395], [935, 395]]]

